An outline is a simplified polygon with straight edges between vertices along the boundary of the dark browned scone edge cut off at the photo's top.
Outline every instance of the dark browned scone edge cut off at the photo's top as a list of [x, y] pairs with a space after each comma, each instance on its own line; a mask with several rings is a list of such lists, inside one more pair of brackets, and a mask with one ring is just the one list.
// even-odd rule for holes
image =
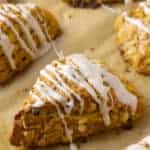
[[102, 4], [123, 3], [123, 0], [63, 0], [73, 7], [97, 8]]

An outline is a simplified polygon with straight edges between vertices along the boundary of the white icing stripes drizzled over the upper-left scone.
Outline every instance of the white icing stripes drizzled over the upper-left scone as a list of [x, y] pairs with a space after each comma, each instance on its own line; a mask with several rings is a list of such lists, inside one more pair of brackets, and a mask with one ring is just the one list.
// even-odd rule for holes
[[[6, 26], [10, 28], [10, 30], [14, 33], [20, 46], [32, 57], [32, 59], [36, 59], [42, 56], [50, 49], [51, 40], [49, 40], [48, 42], [46, 39], [46, 36], [48, 35], [47, 27], [44, 26], [44, 30], [47, 31], [46, 33], [44, 33], [37, 19], [31, 14], [31, 9], [35, 8], [36, 5], [34, 4], [19, 4], [19, 5], [3, 4], [2, 7], [3, 8], [0, 9], [0, 21], [4, 22]], [[24, 24], [22, 19], [20, 19], [19, 15], [15, 14], [13, 11], [19, 13], [30, 27]], [[38, 17], [40, 17], [39, 14], [38, 14]], [[11, 19], [14, 20], [20, 26], [21, 30], [23, 31], [23, 34], [26, 36], [27, 41], [25, 41], [19, 35]], [[42, 16], [41, 16], [41, 19], [42, 19]], [[34, 41], [32, 37], [30, 28], [32, 28], [34, 32], [37, 34], [37, 37], [39, 38], [40, 43], [41, 43], [40, 48], [37, 48], [36, 41]], [[2, 50], [5, 56], [8, 58], [8, 61], [12, 69], [15, 70], [16, 69], [15, 60], [12, 58], [12, 53], [13, 53], [13, 50], [15, 49], [15, 45], [14, 43], [11, 42], [7, 33], [3, 32], [2, 30], [0, 32], [1, 32], [0, 45], [2, 47]]]

